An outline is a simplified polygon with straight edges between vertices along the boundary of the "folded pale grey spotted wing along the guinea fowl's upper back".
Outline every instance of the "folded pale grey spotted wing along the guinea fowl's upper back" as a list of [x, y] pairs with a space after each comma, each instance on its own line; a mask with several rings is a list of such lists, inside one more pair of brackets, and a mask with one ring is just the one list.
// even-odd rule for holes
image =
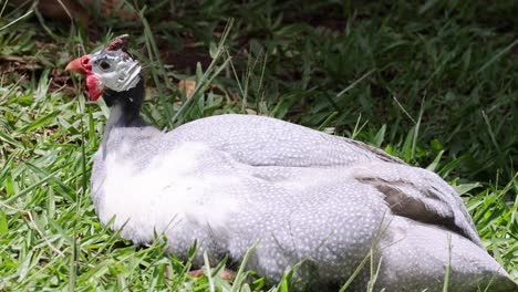
[[355, 179], [383, 194], [394, 215], [446, 227], [481, 247], [464, 202], [442, 178], [363, 143], [251, 115], [201, 118], [174, 133], [175, 139], [203, 142], [253, 167], [355, 168]]

